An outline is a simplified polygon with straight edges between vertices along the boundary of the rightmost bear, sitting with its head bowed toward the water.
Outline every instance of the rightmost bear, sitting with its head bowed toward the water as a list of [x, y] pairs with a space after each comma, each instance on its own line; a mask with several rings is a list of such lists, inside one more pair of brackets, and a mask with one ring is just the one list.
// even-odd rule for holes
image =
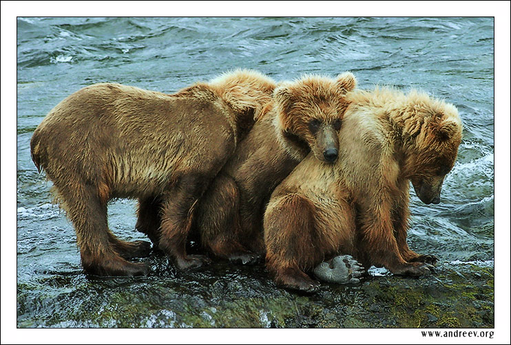
[[346, 99], [337, 163], [306, 157], [275, 188], [264, 214], [267, 268], [284, 287], [317, 289], [306, 273], [338, 254], [411, 276], [436, 261], [406, 243], [409, 181], [421, 201], [439, 203], [461, 142], [457, 109], [388, 88]]

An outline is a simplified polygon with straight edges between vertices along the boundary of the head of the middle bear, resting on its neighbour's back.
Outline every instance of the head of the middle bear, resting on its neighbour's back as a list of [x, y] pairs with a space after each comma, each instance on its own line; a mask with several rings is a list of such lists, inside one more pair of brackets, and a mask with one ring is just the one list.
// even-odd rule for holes
[[322, 162], [333, 163], [339, 153], [338, 131], [348, 107], [346, 93], [355, 89], [355, 76], [345, 72], [335, 80], [322, 76], [304, 76], [297, 82], [283, 83], [273, 95], [278, 116], [275, 126], [284, 146], [310, 148]]

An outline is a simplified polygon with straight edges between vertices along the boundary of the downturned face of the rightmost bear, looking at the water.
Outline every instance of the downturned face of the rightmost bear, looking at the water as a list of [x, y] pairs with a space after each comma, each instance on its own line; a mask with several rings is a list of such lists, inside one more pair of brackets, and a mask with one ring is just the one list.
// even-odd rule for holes
[[[419, 93], [410, 94], [410, 98], [424, 97]], [[457, 158], [462, 125], [452, 104], [439, 100], [419, 104], [428, 104], [428, 107], [422, 105], [416, 109], [419, 126], [412, 131], [404, 126], [404, 136], [413, 138], [404, 170], [417, 197], [426, 204], [437, 204], [444, 179]]]

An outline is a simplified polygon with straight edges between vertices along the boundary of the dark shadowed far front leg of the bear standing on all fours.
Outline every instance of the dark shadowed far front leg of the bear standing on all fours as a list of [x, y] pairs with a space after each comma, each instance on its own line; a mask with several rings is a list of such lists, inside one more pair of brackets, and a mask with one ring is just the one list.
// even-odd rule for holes
[[156, 248], [160, 241], [161, 208], [161, 197], [138, 199], [138, 210], [136, 212], [138, 218], [135, 228], [139, 232], [146, 234]]

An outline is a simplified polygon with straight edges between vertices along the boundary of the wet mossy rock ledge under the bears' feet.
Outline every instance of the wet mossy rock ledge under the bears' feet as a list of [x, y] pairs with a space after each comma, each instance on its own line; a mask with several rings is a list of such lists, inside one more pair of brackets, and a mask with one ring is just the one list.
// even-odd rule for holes
[[[48, 274], [18, 285], [19, 327], [493, 327], [492, 267], [437, 267], [422, 278], [366, 276], [313, 295], [276, 287], [262, 265], [216, 263], [187, 273], [150, 258], [152, 274]], [[155, 267], [157, 267], [155, 269]], [[159, 271], [166, 269], [171, 273]], [[45, 287], [41, 290], [41, 287]]]

